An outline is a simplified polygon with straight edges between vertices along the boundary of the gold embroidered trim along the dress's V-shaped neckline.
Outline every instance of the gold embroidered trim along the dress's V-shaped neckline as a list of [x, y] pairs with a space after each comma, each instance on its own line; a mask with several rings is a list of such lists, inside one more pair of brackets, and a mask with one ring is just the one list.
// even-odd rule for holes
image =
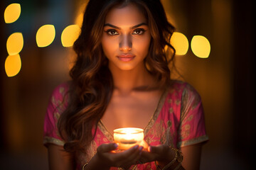
[[[159, 113], [161, 112], [161, 108], [164, 106], [164, 102], [166, 101], [166, 96], [167, 96], [168, 92], [169, 92], [169, 90], [167, 88], [167, 89], [164, 90], [164, 93], [161, 94], [161, 97], [159, 99], [159, 103], [156, 106], [156, 110], [154, 111], [154, 114], [149, 119], [149, 123], [144, 128], [144, 137], [147, 135], [150, 128], [156, 122], [156, 119], [158, 118]], [[112, 133], [109, 130], [107, 130], [105, 125], [102, 123], [101, 119], [98, 123], [98, 128], [102, 131], [102, 133], [105, 135], [105, 137], [107, 137], [107, 140], [109, 140], [110, 142], [114, 142], [114, 137], [113, 137]]]

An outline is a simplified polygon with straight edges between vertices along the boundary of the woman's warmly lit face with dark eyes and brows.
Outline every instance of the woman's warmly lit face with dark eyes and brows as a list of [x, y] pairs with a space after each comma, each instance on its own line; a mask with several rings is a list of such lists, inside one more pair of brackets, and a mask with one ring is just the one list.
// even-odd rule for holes
[[112, 8], [105, 18], [102, 49], [109, 67], [131, 70], [144, 67], [151, 35], [146, 18], [133, 4]]

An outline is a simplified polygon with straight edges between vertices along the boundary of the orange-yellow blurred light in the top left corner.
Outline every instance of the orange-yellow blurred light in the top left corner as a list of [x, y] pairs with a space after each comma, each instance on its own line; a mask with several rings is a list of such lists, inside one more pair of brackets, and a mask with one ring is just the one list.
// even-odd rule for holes
[[20, 4], [10, 4], [4, 11], [4, 21], [6, 23], [14, 23], [21, 15]]

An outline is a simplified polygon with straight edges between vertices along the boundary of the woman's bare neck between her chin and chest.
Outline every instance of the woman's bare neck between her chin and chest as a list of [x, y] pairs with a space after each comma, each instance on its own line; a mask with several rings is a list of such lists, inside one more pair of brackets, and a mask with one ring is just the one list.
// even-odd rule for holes
[[130, 94], [135, 89], [153, 86], [154, 78], [146, 70], [146, 67], [136, 67], [132, 70], [122, 70], [110, 67], [114, 81], [114, 89], [120, 94]]

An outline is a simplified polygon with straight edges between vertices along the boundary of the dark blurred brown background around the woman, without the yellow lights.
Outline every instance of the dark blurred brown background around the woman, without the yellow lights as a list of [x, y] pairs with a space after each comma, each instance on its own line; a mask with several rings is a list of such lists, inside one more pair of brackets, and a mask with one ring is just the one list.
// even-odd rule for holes
[[[48, 169], [43, 119], [53, 88], [69, 79], [72, 47], [63, 47], [63, 29], [75, 23], [87, 0], [1, 1], [0, 169]], [[255, 150], [254, 1], [162, 0], [171, 22], [191, 42], [203, 35], [210, 55], [196, 57], [189, 47], [176, 57], [183, 79], [201, 94], [210, 140], [203, 146], [201, 169], [253, 169]], [[21, 16], [4, 22], [4, 10], [21, 4]], [[36, 32], [55, 26], [55, 39], [38, 47]], [[21, 71], [7, 77], [6, 40], [23, 34]]]

